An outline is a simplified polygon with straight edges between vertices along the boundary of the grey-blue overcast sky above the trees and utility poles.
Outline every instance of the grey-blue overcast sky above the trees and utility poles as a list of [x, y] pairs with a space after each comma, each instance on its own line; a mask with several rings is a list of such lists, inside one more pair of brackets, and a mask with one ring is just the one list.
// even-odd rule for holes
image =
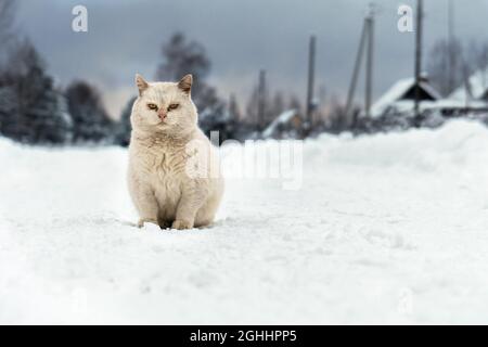
[[[160, 46], [172, 33], [201, 41], [213, 62], [210, 81], [244, 106], [266, 68], [271, 90], [304, 98], [307, 44], [318, 38], [317, 83], [328, 94], [347, 90], [368, 0], [21, 0], [17, 25], [46, 57], [62, 85], [97, 85], [116, 115], [133, 94], [133, 75], [154, 77]], [[425, 50], [446, 37], [448, 0], [425, 0]], [[488, 0], [453, 0], [455, 35], [488, 40]], [[414, 33], [397, 29], [398, 5], [377, 0], [374, 95], [413, 72]], [[72, 31], [72, 9], [88, 8], [89, 31]], [[426, 59], [426, 56], [425, 56]], [[358, 93], [362, 92], [360, 81]]]

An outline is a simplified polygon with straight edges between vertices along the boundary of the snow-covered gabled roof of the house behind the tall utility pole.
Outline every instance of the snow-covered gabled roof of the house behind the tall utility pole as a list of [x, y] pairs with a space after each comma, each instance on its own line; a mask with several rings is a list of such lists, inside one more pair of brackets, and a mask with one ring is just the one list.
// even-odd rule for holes
[[[398, 80], [371, 106], [371, 116], [373, 118], [380, 117], [394, 103], [401, 100], [411, 100], [409, 92], [414, 86], [415, 79], [412, 77]], [[420, 87], [424, 94], [423, 100], [432, 101], [441, 98], [426, 80], [421, 80]]]

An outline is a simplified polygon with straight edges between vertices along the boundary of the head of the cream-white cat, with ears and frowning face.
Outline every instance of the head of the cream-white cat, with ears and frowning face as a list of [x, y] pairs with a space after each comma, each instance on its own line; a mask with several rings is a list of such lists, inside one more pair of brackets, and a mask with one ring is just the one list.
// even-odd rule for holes
[[197, 123], [191, 99], [192, 76], [179, 82], [146, 82], [136, 75], [139, 98], [132, 107], [132, 129], [179, 137], [191, 132]]

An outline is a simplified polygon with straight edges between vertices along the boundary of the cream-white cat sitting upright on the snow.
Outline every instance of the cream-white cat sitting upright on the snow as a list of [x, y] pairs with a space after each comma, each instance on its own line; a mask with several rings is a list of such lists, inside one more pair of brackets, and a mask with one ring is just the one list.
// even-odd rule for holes
[[213, 222], [223, 193], [215, 149], [197, 126], [192, 76], [146, 82], [136, 75], [128, 183], [139, 227], [191, 229]]

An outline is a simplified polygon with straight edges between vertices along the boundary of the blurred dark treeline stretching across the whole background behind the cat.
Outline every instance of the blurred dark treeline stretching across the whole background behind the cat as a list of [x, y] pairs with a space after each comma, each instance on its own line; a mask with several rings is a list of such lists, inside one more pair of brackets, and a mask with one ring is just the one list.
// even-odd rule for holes
[[[0, 0], [0, 136], [28, 144], [127, 146], [136, 95], [114, 119], [108, 117], [101, 93], [91, 82], [78, 79], [67, 87], [55, 83], [35, 46], [16, 34], [15, 4], [14, 0]], [[427, 65], [432, 83], [444, 97], [463, 85], [470, 91], [468, 76], [488, 67], [488, 43], [465, 46], [458, 40], [439, 40]], [[259, 73], [259, 81], [257, 72], [256, 85], [245, 111], [241, 112], [236, 95], [223, 100], [207, 81], [210, 66], [203, 44], [177, 33], [162, 46], [154, 79], [178, 80], [188, 73], [193, 74], [192, 98], [198, 110], [200, 126], [207, 134], [219, 131], [220, 141], [304, 138], [325, 131], [371, 133], [413, 126], [434, 127], [445, 121], [441, 115], [426, 114], [422, 119], [414, 119], [411, 113], [368, 119], [360, 116], [359, 105], [351, 105], [346, 112], [341, 98], [334, 93], [328, 98], [323, 85], [319, 86], [311, 105], [304, 107], [293, 93], [283, 90], [271, 93], [264, 70]], [[304, 108], [310, 117], [305, 117]]]

